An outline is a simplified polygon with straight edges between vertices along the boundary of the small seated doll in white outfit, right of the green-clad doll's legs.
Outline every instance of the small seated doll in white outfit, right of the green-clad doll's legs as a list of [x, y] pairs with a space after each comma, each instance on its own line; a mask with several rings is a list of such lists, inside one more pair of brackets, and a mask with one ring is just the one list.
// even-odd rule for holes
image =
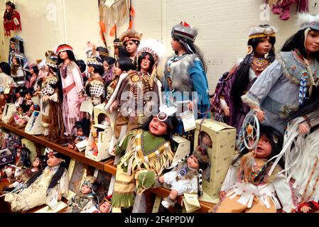
[[192, 155], [188, 155], [178, 162], [175, 170], [167, 172], [158, 178], [161, 184], [171, 184], [171, 192], [161, 204], [168, 209], [174, 206], [175, 199], [184, 192], [202, 195], [202, 171], [210, 161], [207, 148], [198, 146]]

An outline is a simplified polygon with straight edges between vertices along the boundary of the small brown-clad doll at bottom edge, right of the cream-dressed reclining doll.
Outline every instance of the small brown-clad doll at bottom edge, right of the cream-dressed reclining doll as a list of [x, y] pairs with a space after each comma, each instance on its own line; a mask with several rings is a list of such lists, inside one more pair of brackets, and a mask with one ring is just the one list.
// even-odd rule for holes
[[95, 206], [94, 188], [96, 187], [97, 179], [88, 176], [83, 182], [81, 191], [77, 193], [67, 202], [68, 208], [65, 213], [86, 213], [87, 210]]

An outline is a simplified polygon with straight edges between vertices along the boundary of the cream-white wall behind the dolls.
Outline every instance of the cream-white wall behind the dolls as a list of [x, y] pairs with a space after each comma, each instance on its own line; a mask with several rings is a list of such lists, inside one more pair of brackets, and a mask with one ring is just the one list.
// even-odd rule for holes
[[[25, 41], [25, 52], [29, 60], [44, 57], [46, 50], [61, 43], [69, 43], [77, 57], [85, 59], [85, 43], [102, 45], [99, 38], [99, 14], [97, 0], [16, 0], [21, 13], [23, 31], [18, 35]], [[315, 3], [318, 3], [315, 6]], [[48, 21], [47, 6], [56, 6], [57, 20]], [[166, 45], [166, 54], [172, 54], [171, 27], [187, 21], [199, 30], [196, 44], [202, 49], [208, 63], [207, 77], [213, 92], [220, 75], [229, 70], [239, 57], [247, 52], [249, 28], [261, 23], [277, 26], [276, 50], [296, 31], [296, 6], [291, 7], [291, 18], [279, 20], [270, 13], [269, 21], [261, 21], [259, 9], [264, 0], [133, 0], [136, 16], [134, 28], [144, 33], [144, 38], [156, 38]], [[319, 13], [319, 1], [309, 0], [310, 13]], [[5, 0], [0, 0], [4, 11]], [[65, 10], [64, 10], [65, 9]], [[65, 14], [64, 14], [65, 11]], [[129, 20], [118, 25], [118, 35], [126, 31]], [[109, 37], [112, 25], [107, 26], [107, 44], [112, 54], [114, 37]], [[0, 59], [6, 60], [9, 38], [0, 31]]]

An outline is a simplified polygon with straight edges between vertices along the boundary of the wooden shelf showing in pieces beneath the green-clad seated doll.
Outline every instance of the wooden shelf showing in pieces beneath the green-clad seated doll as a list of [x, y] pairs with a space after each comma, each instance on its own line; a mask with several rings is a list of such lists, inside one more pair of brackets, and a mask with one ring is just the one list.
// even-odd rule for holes
[[[108, 160], [107, 162], [104, 163], [104, 171], [109, 172], [112, 175], [117, 174], [117, 167], [114, 165], [114, 159]], [[149, 192], [152, 192], [153, 194], [156, 194], [160, 196], [161, 198], [167, 197], [171, 190], [160, 187], [156, 189], [148, 189]], [[178, 196], [178, 204], [182, 203], [183, 196]], [[200, 201], [200, 206], [201, 208], [195, 211], [195, 213], [207, 213], [210, 209], [212, 209], [215, 204], [210, 204], [207, 202]]]

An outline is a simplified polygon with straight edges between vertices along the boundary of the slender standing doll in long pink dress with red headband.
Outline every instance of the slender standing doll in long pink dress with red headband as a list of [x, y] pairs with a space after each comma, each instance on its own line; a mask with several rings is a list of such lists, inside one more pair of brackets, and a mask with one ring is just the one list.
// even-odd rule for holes
[[83, 94], [83, 78], [79, 67], [75, 64], [75, 56], [70, 45], [60, 45], [58, 50], [58, 83], [60, 101], [62, 102], [65, 135], [72, 135], [76, 121], [82, 118], [80, 104], [85, 99]]

